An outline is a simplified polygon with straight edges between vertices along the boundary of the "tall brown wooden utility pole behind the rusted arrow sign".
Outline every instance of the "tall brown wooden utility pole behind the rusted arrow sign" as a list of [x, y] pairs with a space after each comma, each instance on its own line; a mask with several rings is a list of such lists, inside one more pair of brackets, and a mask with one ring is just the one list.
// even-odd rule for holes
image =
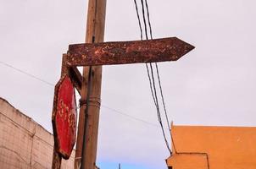
[[[86, 43], [103, 42], [105, 28], [107, 0], [89, 0], [86, 25]], [[75, 169], [81, 168], [81, 158], [84, 161], [84, 168], [96, 168], [97, 157], [97, 131], [100, 111], [102, 66], [92, 66], [83, 68], [83, 79], [81, 85], [81, 107], [78, 123], [78, 132], [75, 149]], [[91, 72], [91, 90], [88, 94], [88, 77]], [[88, 109], [86, 111], [86, 109]], [[87, 117], [86, 117], [87, 112]], [[84, 137], [84, 128], [86, 135]], [[85, 138], [85, 140], [83, 140]], [[84, 150], [83, 149], [83, 144]], [[82, 156], [82, 151], [83, 155]]]

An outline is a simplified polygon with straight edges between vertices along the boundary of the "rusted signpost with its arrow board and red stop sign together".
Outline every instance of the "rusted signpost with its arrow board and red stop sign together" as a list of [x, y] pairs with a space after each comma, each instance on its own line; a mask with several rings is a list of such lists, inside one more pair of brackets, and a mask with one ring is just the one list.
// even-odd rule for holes
[[[55, 85], [52, 121], [54, 152], [57, 153], [53, 159], [69, 159], [75, 144], [75, 88], [81, 94], [82, 85], [82, 76], [76, 66], [176, 61], [193, 48], [176, 37], [70, 45], [68, 53], [63, 57], [62, 78]], [[54, 164], [53, 168], [60, 167]]]

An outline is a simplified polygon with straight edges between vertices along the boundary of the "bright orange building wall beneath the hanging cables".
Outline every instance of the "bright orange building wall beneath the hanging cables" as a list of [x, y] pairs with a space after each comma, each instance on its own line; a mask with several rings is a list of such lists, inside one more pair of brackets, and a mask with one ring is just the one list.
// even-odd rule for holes
[[173, 169], [256, 169], [256, 128], [172, 126]]

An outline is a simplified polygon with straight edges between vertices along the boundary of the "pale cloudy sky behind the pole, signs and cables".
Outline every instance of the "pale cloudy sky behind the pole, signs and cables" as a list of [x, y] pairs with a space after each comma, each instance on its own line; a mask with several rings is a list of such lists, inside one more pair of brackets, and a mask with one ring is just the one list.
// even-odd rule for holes
[[[177, 36], [196, 46], [176, 63], [159, 63], [174, 124], [255, 126], [255, 1], [148, 4], [154, 38]], [[86, 0], [0, 0], [0, 96], [51, 132], [62, 53], [84, 42], [86, 8]], [[133, 0], [108, 0], [105, 41], [139, 38]], [[102, 104], [98, 166], [166, 168], [145, 65], [104, 67]]]

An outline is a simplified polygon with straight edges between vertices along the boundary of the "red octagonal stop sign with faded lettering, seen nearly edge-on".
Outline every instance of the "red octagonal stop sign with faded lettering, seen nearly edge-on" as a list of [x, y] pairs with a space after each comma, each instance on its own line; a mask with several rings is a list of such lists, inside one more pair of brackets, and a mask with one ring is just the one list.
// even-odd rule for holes
[[55, 86], [52, 121], [57, 151], [64, 159], [69, 159], [75, 144], [76, 103], [75, 89], [68, 75]]

